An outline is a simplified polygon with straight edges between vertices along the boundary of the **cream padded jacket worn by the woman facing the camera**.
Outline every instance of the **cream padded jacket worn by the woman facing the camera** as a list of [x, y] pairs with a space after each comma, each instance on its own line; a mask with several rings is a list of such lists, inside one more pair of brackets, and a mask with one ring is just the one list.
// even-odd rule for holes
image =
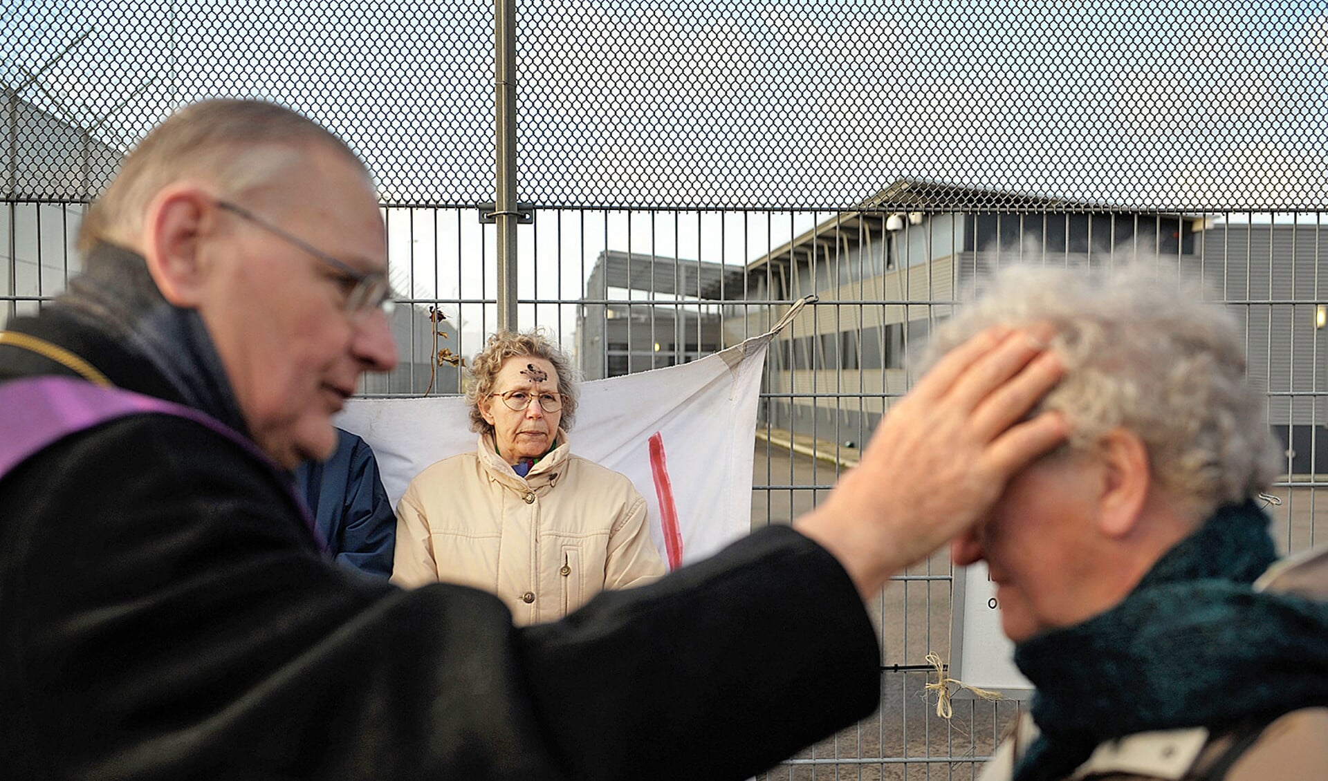
[[526, 477], [479, 436], [420, 472], [397, 504], [392, 579], [497, 594], [517, 625], [558, 621], [603, 589], [664, 574], [631, 480], [570, 451], [567, 432]]

